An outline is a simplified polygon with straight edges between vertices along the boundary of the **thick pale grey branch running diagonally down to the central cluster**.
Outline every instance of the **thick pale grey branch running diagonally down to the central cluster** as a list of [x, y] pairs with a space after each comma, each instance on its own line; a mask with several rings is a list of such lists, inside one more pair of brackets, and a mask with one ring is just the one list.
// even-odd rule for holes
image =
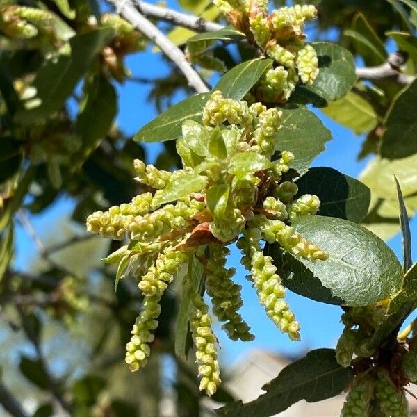
[[188, 63], [183, 51], [177, 45], [173, 44], [152, 22], [149, 22], [145, 16], [141, 15], [130, 0], [108, 0], [108, 2], [113, 4], [124, 19], [152, 40], [179, 67], [179, 70], [186, 76], [190, 87], [194, 88], [197, 92], [209, 91], [197, 71]]

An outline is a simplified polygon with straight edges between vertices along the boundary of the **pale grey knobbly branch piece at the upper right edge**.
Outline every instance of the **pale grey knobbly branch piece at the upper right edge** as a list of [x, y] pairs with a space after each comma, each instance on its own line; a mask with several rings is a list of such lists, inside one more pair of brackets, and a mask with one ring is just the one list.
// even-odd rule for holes
[[358, 79], [370, 81], [394, 81], [396, 83], [407, 85], [412, 83], [415, 75], [403, 74], [400, 67], [404, 65], [407, 57], [400, 52], [393, 52], [387, 58], [386, 62], [376, 67], [357, 68], [356, 74]]

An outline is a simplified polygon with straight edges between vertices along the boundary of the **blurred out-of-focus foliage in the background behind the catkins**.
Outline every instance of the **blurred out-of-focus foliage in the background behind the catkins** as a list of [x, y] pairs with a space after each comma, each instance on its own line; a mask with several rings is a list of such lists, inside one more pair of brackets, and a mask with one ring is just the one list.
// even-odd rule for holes
[[[384, 63], [388, 51], [400, 49], [408, 56], [402, 70], [416, 73], [415, 1], [274, 3], [316, 3], [319, 19], [309, 27], [311, 40], [338, 42], [367, 66]], [[209, 0], [178, 0], [177, 7], [221, 22]], [[194, 34], [158, 26], [181, 47]], [[140, 293], [129, 279], [115, 293], [115, 270], [99, 261], [120, 243], [85, 235], [88, 214], [142, 192], [133, 181], [133, 158], [149, 162], [145, 149], [115, 123], [117, 85], [129, 80], [147, 85], [149, 106], [158, 111], [193, 93], [167, 60], [166, 76], [131, 76], [126, 56], [149, 49], [152, 45], [104, 1], [0, 0], [0, 404], [16, 416], [157, 416], [164, 398], [174, 404], [172, 415], [213, 414], [197, 389], [193, 363], [173, 354], [174, 315], [167, 312], [176, 309], [174, 292], [163, 299], [165, 316], [149, 365], [129, 372], [124, 345]], [[231, 68], [253, 51], [219, 44], [213, 54]], [[215, 77], [200, 72], [208, 83]], [[395, 101], [403, 88], [396, 81], [359, 81], [346, 97], [322, 109], [365, 135], [358, 158], [374, 156], [360, 177], [373, 193], [364, 222], [382, 238], [399, 229], [392, 174], [403, 180], [410, 215], [417, 210], [417, 149], [401, 158], [382, 152], [387, 114], [402, 116]], [[411, 91], [409, 100], [414, 114], [416, 95]], [[177, 167], [174, 143], [159, 149], [155, 164]], [[62, 198], [70, 199], [70, 213], [60, 222], [52, 217], [40, 238], [32, 219]], [[16, 261], [18, 228], [35, 243], [36, 252], [25, 254], [28, 268]], [[214, 400], [232, 398], [220, 389]]]

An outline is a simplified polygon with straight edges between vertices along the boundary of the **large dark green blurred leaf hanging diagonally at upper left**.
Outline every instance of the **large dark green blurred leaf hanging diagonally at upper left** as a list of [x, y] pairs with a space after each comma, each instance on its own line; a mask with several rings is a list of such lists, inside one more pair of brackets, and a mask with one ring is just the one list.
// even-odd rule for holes
[[46, 60], [40, 67], [33, 81], [36, 96], [25, 101], [26, 108], [17, 111], [15, 120], [31, 124], [60, 110], [92, 60], [113, 38], [113, 34], [111, 28], [101, 28], [71, 38], [69, 54]]

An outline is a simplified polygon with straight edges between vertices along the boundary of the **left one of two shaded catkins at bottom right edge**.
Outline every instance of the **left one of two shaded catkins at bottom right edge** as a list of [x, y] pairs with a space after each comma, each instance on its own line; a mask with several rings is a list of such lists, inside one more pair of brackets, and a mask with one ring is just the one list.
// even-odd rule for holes
[[349, 391], [343, 404], [341, 417], [364, 417], [368, 416], [370, 398], [373, 390], [373, 380], [363, 377]]

